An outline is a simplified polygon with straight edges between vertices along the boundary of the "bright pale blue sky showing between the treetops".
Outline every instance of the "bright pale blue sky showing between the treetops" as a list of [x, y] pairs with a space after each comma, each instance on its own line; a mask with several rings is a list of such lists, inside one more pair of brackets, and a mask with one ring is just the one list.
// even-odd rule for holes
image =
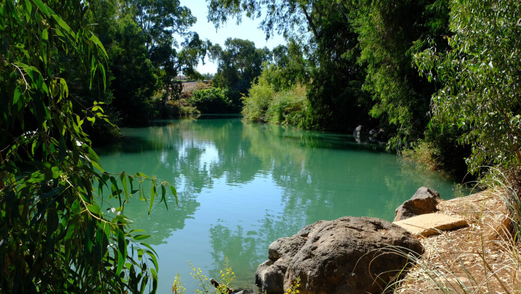
[[[273, 49], [279, 44], [286, 44], [281, 35], [275, 35], [266, 41], [266, 34], [257, 28], [261, 19], [251, 20], [243, 17], [240, 25], [235, 24], [234, 19], [229, 20], [228, 23], [222, 24], [216, 32], [214, 24], [209, 23], [206, 19], [208, 8], [205, 0], [180, 0], [180, 3], [182, 6], [190, 8], [192, 15], [197, 18], [197, 23], [190, 30], [199, 33], [201, 39], [208, 39], [212, 44], [218, 43], [224, 46], [228, 37], [253, 41], [257, 48], [266, 46], [269, 49]], [[217, 65], [207, 59], [205, 59], [206, 64], [204, 66], [200, 63], [197, 71], [201, 73], [215, 73]]]

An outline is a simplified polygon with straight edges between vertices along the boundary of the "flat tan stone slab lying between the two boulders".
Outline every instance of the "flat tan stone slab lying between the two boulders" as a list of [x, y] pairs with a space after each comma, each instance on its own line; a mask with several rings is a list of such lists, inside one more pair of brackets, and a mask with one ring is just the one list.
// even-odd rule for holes
[[406, 229], [413, 235], [427, 237], [438, 234], [440, 231], [448, 231], [458, 227], [467, 226], [467, 221], [455, 216], [445, 215], [441, 213], [427, 213], [405, 220], [393, 222]]

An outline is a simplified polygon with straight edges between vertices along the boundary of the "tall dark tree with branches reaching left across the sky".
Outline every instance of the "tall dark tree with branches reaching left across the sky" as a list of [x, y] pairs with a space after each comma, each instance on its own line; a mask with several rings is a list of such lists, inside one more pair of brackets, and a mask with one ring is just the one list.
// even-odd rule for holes
[[307, 127], [346, 131], [367, 117], [368, 99], [360, 90], [364, 76], [356, 62], [359, 54], [357, 34], [350, 16], [350, 11], [355, 9], [354, 3], [210, 0], [208, 8], [208, 19], [217, 26], [229, 17], [240, 21], [243, 12], [251, 18], [262, 17], [265, 13], [261, 27], [267, 36], [282, 33], [306, 53], [312, 69], [307, 98], [314, 118]]

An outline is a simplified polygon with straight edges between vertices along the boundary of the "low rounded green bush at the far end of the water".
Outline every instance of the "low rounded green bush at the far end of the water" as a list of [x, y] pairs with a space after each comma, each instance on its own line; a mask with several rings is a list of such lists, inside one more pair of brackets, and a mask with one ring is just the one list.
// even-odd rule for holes
[[197, 90], [192, 93], [188, 102], [195, 106], [202, 113], [234, 113], [238, 112], [237, 105], [234, 105], [229, 90], [222, 88], [208, 88]]

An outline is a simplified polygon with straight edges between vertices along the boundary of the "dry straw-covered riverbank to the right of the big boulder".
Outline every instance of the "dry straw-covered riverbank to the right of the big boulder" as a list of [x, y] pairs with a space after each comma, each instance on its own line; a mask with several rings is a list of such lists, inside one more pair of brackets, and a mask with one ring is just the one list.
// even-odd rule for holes
[[404, 277], [398, 293], [512, 293], [521, 290], [519, 244], [505, 229], [500, 195], [482, 191], [441, 201], [438, 213], [469, 226], [421, 238], [425, 253]]

